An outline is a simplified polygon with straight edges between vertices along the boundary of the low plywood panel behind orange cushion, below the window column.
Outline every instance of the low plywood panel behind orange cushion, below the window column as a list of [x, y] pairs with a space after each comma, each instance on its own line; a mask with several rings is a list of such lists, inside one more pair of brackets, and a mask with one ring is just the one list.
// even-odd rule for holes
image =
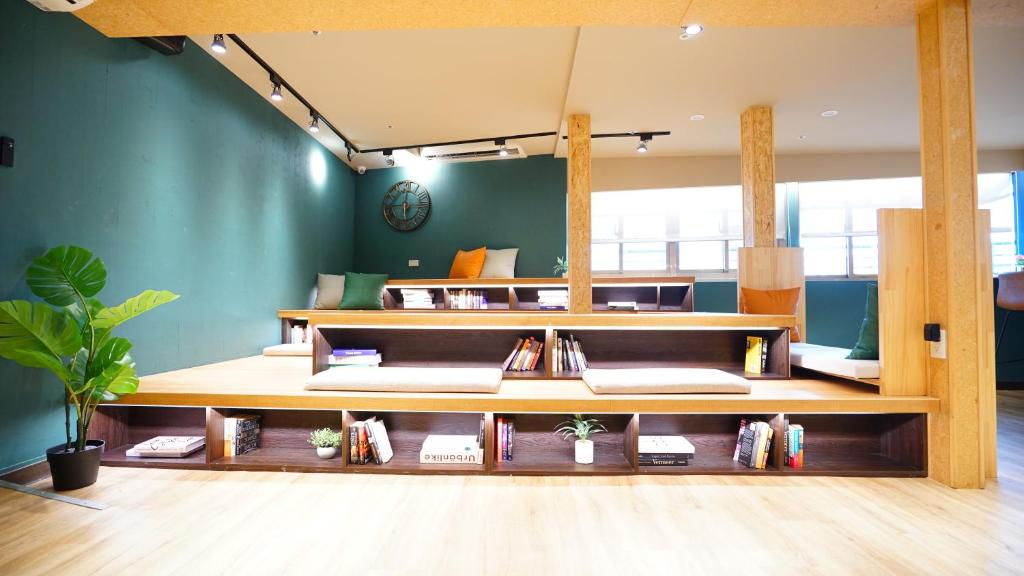
[[[800, 287], [797, 325], [807, 341], [807, 284], [803, 248], [740, 248], [739, 288], [779, 290]], [[736, 290], [736, 310], [743, 310], [743, 291]]]

